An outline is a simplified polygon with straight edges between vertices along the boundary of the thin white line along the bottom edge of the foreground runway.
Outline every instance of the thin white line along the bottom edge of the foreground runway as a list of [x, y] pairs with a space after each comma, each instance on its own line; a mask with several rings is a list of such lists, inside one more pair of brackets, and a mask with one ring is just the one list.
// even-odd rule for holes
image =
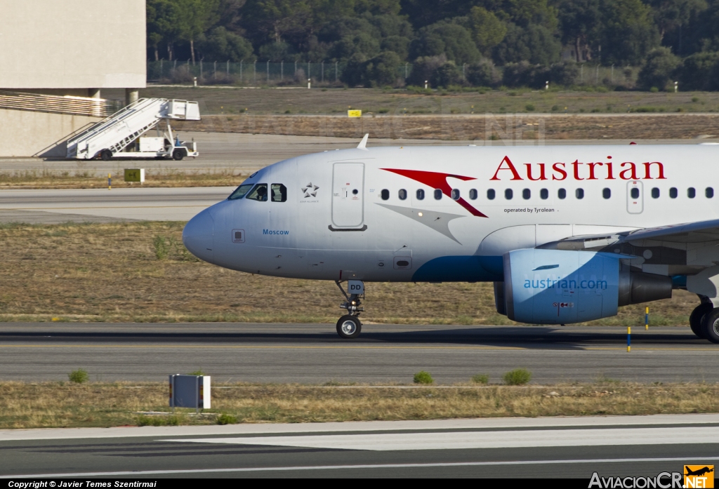
[[53, 478], [53, 477], [104, 477], [111, 475], [157, 475], [157, 474], [206, 474], [221, 472], [285, 472], [288, 470], [357, 470], [357, 469], [405, 469], [424, 467], [482, 467], [486, 465], [563, 465], [563, 464], [606, 464], [627, 462], [686, 462], [698, 460], [719, 460], [710, 457], [671, 457], [671, 458], [606, 458], [583, 460], [509, 460], [503, 462], [448, 462], [427, 464], [367, 464], [367, 465], [298, 465], [296, 467], [238, 467], [232, 469], [188, 469], [188, 470], [125, 470], [122, 472], [76, 472], [65, 474], [22, 474], [0, 475], [0, 479]]

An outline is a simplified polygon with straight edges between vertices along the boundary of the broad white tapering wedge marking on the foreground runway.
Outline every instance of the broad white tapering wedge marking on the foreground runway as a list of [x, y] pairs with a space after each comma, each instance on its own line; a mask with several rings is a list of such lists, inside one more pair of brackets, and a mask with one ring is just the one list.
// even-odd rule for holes
[[719, 427], [537, 429], [497, 432], [323, 434], [296, 437], [162, 439], [160, 442], [226, 443], [336, 450], [457, 450], [472, 448], [590, 447], [716, 443]]

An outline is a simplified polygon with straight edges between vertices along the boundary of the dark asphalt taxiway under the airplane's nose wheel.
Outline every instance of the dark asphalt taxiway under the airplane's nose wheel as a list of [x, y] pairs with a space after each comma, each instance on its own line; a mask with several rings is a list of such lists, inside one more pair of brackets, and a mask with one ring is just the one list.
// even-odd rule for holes
[[719, 345], [688, 327], [364, 325], [341, 340], [334, 325], [191, 323], [0, 325], [0, 379], [66, 380], [85, 368], [92, 381], [165, 381], [201, 369], [214, 381], [411, 383], [499, 382], [528, 368], [533, 383], [717, 382]]

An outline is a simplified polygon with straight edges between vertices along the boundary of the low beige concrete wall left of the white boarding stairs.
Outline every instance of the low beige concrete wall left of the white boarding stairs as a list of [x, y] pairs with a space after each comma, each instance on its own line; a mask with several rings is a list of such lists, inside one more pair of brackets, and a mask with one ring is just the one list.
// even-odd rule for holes
[[0, 108], [0, 158], [64, 158], [68, 136], [101, 119]]

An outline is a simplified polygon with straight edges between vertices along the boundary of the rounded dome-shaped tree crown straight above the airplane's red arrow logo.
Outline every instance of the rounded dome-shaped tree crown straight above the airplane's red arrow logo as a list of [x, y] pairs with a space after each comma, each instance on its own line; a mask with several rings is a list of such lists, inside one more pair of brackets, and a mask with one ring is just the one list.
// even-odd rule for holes
[[410, 47], [411, 57], [442, 54], [458, 65], [477, 62], [482, 57], [472, 34], [459, 24], [443, 21], [420, 29]]

